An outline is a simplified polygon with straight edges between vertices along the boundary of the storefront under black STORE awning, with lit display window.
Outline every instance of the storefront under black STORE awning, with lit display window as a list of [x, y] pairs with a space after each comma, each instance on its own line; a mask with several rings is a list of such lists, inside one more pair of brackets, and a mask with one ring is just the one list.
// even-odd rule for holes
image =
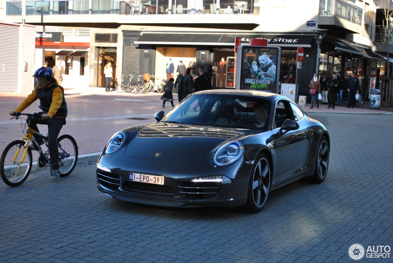
[[[194, 58], [196, 69], [199, 65], [212, 77], [214, 88], [235, 88], [236, 55], [234, 51], [235, 37], [241, 38], [242, 44], [249, 44], [251, 38], [268, 40], [269, 46], [281, 47], [281, 65], [279, 82], [297, 84], [300, 92], [309, 91], [309, 81], [315, 71], [316, 47], [312, 46], [311, 34], [206, 34], [206, 33], [143, 33], [142, 36], [131, 36], [130, 45], [140, 49], [140, 68], [138, 74], [149, 72], [157, 79], [166, 78], [166, 65], [171, 58], [176, 69], [182, 61], [187, 67]], [[127, 33], [123, 31], [127, 43]], [[297, 69], [297, 50], [303, 47], [305, 58], [302, 69]], [[258, 58], [255, 58], [256, 60]], [[123, 63], [123, 72], [127, 71]], [[129, 72], [129, 71], [127, 71]], [[196, 72], [197, 74], [197, 72]], [[305, 88], [304, 88], [305, 87]]]

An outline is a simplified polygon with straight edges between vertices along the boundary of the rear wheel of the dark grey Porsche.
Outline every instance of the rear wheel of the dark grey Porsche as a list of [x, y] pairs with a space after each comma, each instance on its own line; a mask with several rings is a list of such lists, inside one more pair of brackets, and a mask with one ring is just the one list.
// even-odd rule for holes
[[314, 175], [311, 176], [312, 183], [322, 183], [326, 178], [327, 169], [329, 167], [329, 142], [325, 136], [321, 137], [318, 143], [315, 156]]

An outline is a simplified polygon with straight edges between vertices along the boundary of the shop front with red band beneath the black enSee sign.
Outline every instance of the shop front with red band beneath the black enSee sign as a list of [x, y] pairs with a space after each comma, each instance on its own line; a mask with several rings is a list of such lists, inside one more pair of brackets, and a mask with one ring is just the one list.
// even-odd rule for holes
[[64, 67], [64, 87], [88, 85], [88, 52], [90, 43], [64, 42], [61, 32], [37, 32], [35, 39], [35, 68], [44, 63], [53, 67], [61, 60]]

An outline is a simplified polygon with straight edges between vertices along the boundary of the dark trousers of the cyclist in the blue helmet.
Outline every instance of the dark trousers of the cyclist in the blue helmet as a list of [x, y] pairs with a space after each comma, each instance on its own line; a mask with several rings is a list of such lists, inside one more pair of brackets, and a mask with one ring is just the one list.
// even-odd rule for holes
[[[54, 117], [51, 120], [37, 120], [30, 119], [30, 127], [36, 132], [39, 132], [37, 124], [48, 125], [48, 148], [51, 159], [51, 167], [53, 170], [59, 169], [59, 148], [57, 147], [57, 137], [61, 131], [63, 125], [66, 124], [66, 118]], [[37, 140], [37, 136], [34, 136]], [[42, 140], [42, 139], [38, 139]]]

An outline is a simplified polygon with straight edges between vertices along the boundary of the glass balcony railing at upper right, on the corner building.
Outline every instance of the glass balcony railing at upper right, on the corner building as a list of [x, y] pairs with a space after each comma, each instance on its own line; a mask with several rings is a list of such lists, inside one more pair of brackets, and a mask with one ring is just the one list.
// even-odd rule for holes
[[320, 16], [337, 16], [362, 25], [363, 9], [344, 0], [321, 0]]

